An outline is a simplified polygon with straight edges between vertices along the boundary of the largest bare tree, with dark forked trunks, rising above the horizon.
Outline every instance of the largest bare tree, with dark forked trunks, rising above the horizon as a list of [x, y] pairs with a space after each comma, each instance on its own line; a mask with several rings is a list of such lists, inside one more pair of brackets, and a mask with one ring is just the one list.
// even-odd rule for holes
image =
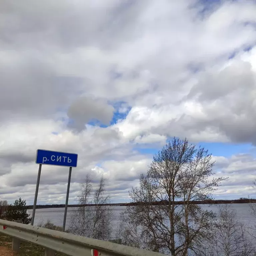
[[[139, 233], [139, 247], [147, 250], [173, 256], [195, 251], [208, 238], [215, 218], [195, 202], [211, 199], [224, 180], [211, 179], [213, 165], [207, 150], [174, 138], [154, 156], [139, 187], [130, 191], [134, 205], [127, 207], [125, 218], [133, 230], [126, 227], [125, 233]], [[127, 245], [137, 244], [136, 236], [128, 237]]]

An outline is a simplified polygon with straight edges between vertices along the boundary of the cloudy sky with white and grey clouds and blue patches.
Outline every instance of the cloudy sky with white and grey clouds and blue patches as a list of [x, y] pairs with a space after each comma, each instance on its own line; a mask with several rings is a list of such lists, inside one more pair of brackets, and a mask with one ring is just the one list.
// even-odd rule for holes
[[[256, 1], [2, 0], [0, 198], [33, 204], [36, 150], [78, 153], [70, 200], [104, 173], [129, 201], [173, 136], [256, 197]], [[43, 166], [38, 204], [65, 202], [68, 168]]]

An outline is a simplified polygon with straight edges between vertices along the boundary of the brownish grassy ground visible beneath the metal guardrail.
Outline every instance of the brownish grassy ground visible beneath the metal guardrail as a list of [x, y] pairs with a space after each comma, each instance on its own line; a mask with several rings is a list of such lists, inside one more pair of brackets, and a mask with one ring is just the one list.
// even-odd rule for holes
[[[12, 248], [12, 238], [5, 236], [0, 233], [0, 246]], [[20, 246], [20, 252], [17, 254], [19, 256], [44, 256], [44, 248], [39, 245], [34, 245], [32, 243], [22, 242]], [[65, 256], [62, 253], [56, 253], [56, 256]]]

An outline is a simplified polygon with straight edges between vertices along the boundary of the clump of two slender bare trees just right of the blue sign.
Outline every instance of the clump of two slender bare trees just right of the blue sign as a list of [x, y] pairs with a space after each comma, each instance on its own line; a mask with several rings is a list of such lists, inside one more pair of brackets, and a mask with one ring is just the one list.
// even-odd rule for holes
[[87, 175], [77, 201], [80, 207], [72, 212], [69, 232], [95, 239], [111, 239], [112, 209], [106, 205], [110, 203], [110, 197], [106, 195], [104, 177], [101, 176], [97, 188], [93, 190], [90, 175]]

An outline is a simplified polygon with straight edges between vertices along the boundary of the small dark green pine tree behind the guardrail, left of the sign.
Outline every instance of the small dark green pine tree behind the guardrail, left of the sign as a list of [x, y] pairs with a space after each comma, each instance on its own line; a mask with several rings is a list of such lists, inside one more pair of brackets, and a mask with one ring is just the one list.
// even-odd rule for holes
[[30, 214], [27, 213], [26, 200], [22, 200], [21, 198], [15, 200], [13, 205], [10, 205], [8, 210], [4, 214], [4, 218], [9, 221], [21, 221], [23, 224], [29, 224], [31, 222], [31, 218], [29, 218]]

